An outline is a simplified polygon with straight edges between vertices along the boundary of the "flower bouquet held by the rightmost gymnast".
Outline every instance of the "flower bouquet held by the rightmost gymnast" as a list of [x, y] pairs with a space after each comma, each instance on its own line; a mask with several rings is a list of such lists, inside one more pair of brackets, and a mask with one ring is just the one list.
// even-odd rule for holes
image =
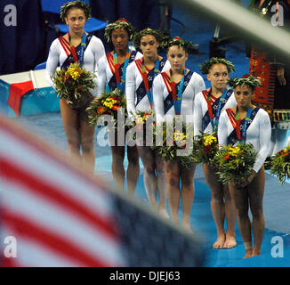
[[222, 146], [214, 158], [221, 182], [238, 184], [243, 178], [247, 179], [251, 175], [256, 157], [257, 151], [251, 143], [237, 142], [235, 146]]

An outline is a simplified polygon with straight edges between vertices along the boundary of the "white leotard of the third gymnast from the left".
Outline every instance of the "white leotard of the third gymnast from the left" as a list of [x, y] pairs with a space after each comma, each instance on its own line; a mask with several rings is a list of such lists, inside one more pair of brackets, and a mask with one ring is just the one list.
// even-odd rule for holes
[[[131, 117], [136, 115], [136, 110], [148, 111], [151, 109], [149, 98], [146, 94], [145, 85], [143, 84], [143, 78], [141, 76], [141, 64], [142, 58], [133, 61], [129, 65], [126, 74], [125, 94], [127, 101], [127, 111]], [[159, 72], [163, 72], [168, 69], [170, 69], [169, 61], [165, 61], [165, 59], [159, 61]], [[149, 69], [147, 69], [147, 72], [149, 72], [147, 74], [149, 85], [152, 86], [154, 72], [153, 70]]]

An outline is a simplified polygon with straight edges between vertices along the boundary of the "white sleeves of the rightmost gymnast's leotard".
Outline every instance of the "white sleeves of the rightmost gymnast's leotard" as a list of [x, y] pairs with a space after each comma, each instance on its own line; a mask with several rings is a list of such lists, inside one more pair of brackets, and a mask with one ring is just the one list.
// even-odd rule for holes
[[[230, 111], [230, 112], [229, 112]], [[230, 116], [233, 112], [228, 109], [222, 111], [218, 127], [219, 144], [229, 143], [229, 136], [234, 131], [234, 117]], [[254, 163], [254, 171], [258, 172], [267, 158], [270, 147], [270, 118], [268, 113], [261, 108], [257, 111], [253, 121], [246, 130], [246, 143], [252, 143], [254, 149], [258, 152], [257, 159]]]

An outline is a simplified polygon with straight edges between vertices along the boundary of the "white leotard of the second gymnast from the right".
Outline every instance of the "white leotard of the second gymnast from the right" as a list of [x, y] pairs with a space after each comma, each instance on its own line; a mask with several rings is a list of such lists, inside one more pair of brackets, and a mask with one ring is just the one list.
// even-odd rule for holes
[[[230, 94], [230, 92], [232, 93]], [[216, 103], [217, 102], [215, 101], [215, 103], [213, 103], [212, 105], [213, 118], [214, 118], [214, 113], [218, 107]], [[233, 91], [230, 89], [229, 96], [226, 96], [225, 98], [225, 104], [222, 107], [221, 114], [223, 110], [234, 107], [236, 105], [237, 105], [237, 102], [235, 99], [235, 95]], [[208, 118], [209, 118], [208, 107], [207, 107], [205, 95], [203, 94], [203, 92], [199, 92], [194, 100], [194, 135], [201, 134], [201, 132], [204, 132], [207, 134], [213, 133], [213, 126], [209, 122]]]

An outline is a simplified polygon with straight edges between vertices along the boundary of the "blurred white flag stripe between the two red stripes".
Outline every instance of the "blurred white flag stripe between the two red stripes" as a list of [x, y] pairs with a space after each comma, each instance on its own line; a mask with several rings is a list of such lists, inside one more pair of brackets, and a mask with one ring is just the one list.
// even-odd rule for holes
[[110, 239], [104, 232], [98, 231], [73, 212], [64, 211], [57, 205], [36, 197], [23, 185], [12, 182], [2, 184], [5, 189], [4, 208], [27, 218], [33, 224], [60, 236], [63, 240], [70, 240], [81, 251], [101, 257], [107, 264], [122, 264], [118, 240]]

